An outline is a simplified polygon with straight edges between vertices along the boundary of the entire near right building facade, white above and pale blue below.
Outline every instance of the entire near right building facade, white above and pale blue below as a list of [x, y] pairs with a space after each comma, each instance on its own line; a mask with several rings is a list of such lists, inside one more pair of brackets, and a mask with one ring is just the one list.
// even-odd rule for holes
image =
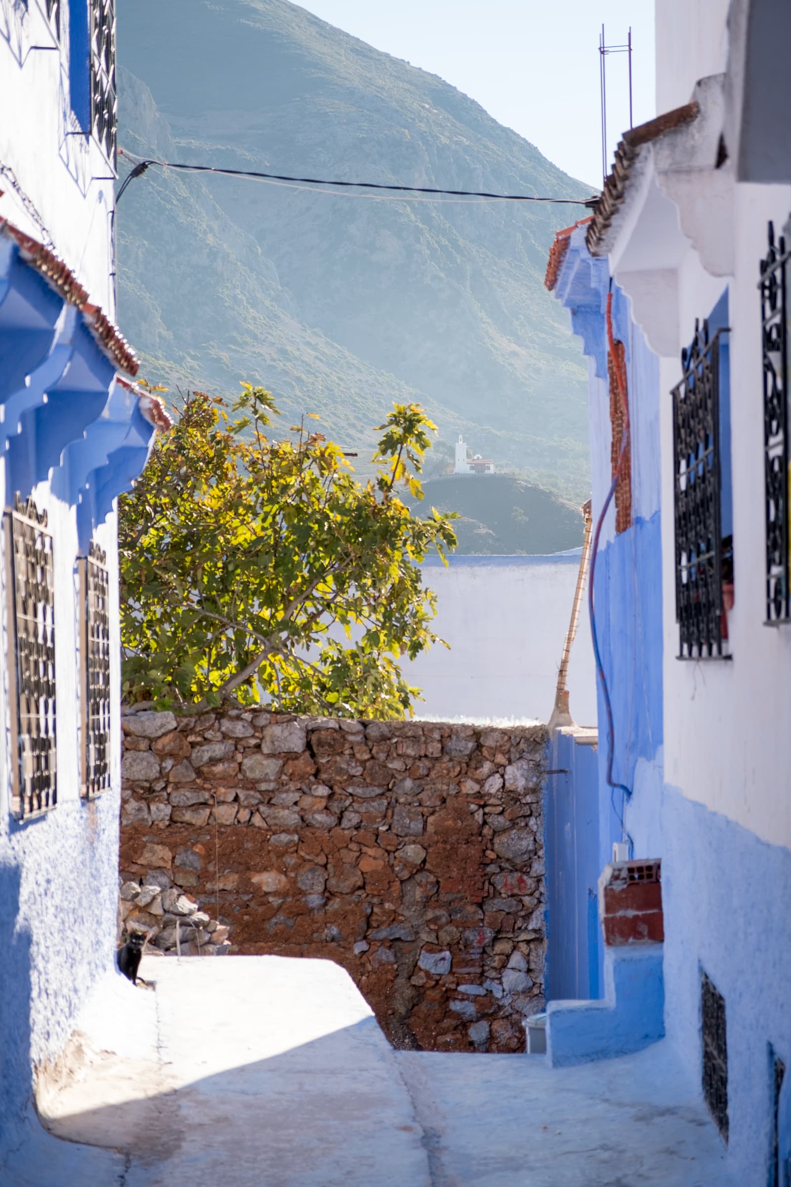
[[[791, 626], [765, 624], [759, 293], [767, 224], [774, 224], [776, 236], [783, 231], [791, 185], [739, 179], [733, 119], [748, 110], [751, 93], [745, 89], [741, 107], [728, 97], [744, 61], [736, 34], [760, 7], [757, 0], [657, 4], [658, 110], [694, 100], [698, 112], [670, 129], [655, 129], [639, 147], [621, 204], [595, 247], [631, 298], [659, 373], [653, 453], [661, 477], [663, 745], [637, 766], [625, 834], [636, 857], [662, 858], [665, 1034], [697, 1083], [701, 971], [722, 995], [728, 1161], [751, 1187], [791, 1181], [791, 1079], [786, 1071], [778, 1088], [768, 1074], [772, 1068], [777, 1075], [779, 1065], [791, 1067]], [[776, 7], [779, 15], [783, 6]], [[753, 75], [751, 87], [755, 83]], [[776, 150], [791, 157], [787, 135]], [[671, 392], [682, 379], [681, 351], [693, 341], [696, 319], [708, 318], [726, 292], [729, 658], [680, 660]], [[645, 443], [633, 443], [633, 478], [644, 464], [653, 465], [653, 456]]]

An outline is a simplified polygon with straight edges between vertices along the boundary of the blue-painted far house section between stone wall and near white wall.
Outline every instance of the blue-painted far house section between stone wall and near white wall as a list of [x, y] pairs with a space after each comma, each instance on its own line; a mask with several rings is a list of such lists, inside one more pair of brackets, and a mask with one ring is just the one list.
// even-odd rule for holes
[[[626, 358], [632, 526], [615, 535], [613, 500], [595, 558], [594, 609], [612, 704], [613, 781], [632, 791], [640, 779], [640, 763], [653, 762], [663, 742], [659, 369], [656, 355], [632, 323], [629, 299], [610, 283], [606, 261], [589, 256], [585, 228], [574, 231], [556, 296], [569, 309], [572, 329], [591, 360], [594, 523], [612, 481], [606, 328], [611, 291], [613, 336], [624, 343]], [[561, 737], [553, 743], [559, 753], [553, 751], [549, 762], [550, 769], [570, 772], [550, 776], [547, 804], [548, 996], [555, 999], [600, 997], [604, 991], [594, 895], [601, 870], [612, 861], [613, 842], [625, 836], [625, 795], [607, 782], [607, 716], [601, 681], [598, 721], [598, 750], [580, 761], [581, 748]]]

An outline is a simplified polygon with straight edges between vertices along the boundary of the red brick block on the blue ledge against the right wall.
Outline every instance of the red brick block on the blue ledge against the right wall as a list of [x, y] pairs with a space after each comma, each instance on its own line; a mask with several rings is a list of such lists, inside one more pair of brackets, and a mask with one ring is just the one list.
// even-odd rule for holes
[[605, 944], [662, 944], [662, 862], [617, 862], [599, 878]]

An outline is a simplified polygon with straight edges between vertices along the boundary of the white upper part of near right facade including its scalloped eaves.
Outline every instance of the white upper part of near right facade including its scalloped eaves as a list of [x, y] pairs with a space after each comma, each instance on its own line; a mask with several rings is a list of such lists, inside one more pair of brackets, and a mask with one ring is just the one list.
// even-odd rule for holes
[[[741, 6], [742, 0], [739, 0]], [[772, 844], [791, 846], [791, 800], [778, 786], [791, 764], [783, 722], [791, 709], [791, 628], [767, 628], [763, 463], [763, 358], [758, 261], [767, 222], [779, 231], [791, 186], [714, 169], [725, 125], [728, 4], [657, 6], [657, 109], [696, 97], [701, 113], [640, 152], [607, 242], [618, 284], [659, 356], [661, 391], [681, 379], [681, 349], [722, 292], [729, 294], [735, 604], [732, 659], [676, 659], [674, 474], [662, 465], [665, 780]], [[715, 77], [704, 77], [715, 71]], [[672, 407], [661, 401], [661, 456], [672, 457]]]

